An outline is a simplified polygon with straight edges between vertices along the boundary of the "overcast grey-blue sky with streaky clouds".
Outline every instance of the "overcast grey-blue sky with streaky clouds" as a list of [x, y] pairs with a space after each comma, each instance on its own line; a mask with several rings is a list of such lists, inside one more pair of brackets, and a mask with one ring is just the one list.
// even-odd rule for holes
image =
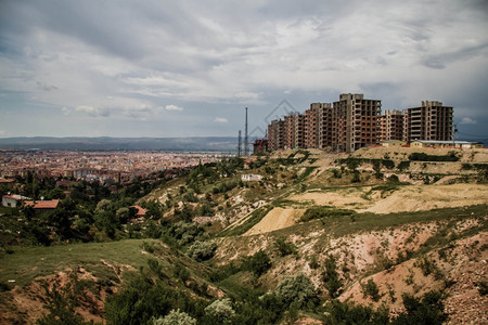
[[0, 0], [3, 138], [260, 135], [349, 92], [487, 136], [488, 1]]

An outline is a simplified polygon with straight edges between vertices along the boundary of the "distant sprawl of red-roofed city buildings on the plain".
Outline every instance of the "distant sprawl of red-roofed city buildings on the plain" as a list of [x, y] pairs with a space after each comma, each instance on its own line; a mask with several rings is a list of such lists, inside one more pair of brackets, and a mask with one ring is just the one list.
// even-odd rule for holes
[[[29, 173], [112, 185], [136, 178], [171, 178], [178, 170], [233, 154], [164, 152], [0, 151], [0, 181]], [[3, 180], [2, 180], [3, 179]]]

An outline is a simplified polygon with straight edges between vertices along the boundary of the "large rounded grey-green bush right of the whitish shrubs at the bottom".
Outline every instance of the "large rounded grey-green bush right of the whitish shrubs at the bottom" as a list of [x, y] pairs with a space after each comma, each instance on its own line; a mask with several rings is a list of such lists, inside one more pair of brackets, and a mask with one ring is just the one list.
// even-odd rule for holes
[[283, 278], [278, 284], [277, 295], [288, 307], [292, 303], [298, 308], [313, 307], [319, 302], [313, 284], [303, 273]]

